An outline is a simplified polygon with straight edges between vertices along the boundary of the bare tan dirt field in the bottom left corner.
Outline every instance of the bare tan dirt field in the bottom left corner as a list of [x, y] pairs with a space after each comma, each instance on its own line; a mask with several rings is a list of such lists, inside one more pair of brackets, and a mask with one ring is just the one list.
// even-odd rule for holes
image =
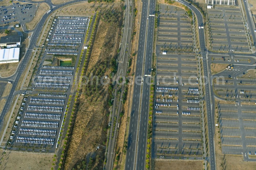
[[5, 153], [1, 149], [0, 169], [51, 169], [53, 155], [24, 152]]

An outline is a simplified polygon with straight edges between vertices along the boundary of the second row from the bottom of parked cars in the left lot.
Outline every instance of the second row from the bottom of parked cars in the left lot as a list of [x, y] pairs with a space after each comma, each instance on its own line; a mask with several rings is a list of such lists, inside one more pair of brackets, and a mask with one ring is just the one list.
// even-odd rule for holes
[[44, 130], [44, 129], [27, 129], [20, 128], [19, 134], [27, 135], [42, 135], [42, 136], [56, 136], [57, 130]]

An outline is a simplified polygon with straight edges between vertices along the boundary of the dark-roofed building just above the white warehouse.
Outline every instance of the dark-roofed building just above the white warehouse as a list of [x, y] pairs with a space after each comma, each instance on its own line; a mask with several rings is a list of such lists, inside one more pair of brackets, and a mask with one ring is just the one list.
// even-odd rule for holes
[[14, 48], [20, 45], [20, 42], [21, 42], [20, 35], [5, 36], [0, 38], [1, 47]]

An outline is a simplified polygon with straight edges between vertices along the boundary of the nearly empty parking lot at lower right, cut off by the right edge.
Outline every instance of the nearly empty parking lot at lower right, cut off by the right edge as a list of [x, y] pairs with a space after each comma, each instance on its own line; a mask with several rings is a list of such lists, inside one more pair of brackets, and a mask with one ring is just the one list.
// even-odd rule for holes
[[214, 90], [221, 98], [216, 106], [223, 154], [256, 152], [255, 89], [255, 78], [235, 76], [214, 81]]

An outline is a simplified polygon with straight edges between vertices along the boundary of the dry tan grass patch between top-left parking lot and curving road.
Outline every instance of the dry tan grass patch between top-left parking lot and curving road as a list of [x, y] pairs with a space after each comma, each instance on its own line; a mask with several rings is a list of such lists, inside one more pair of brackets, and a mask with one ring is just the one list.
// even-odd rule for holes
[[35, 26], [37, 25], [37, 23], [41, 20], [42, 16], [50, 9], [49, 5], [46, 3], [40, 3], [37, 11], [36, 11], [36, 15], [34, 16], [34, 18], [32, 19], [32, 21], [30, 21], [29, 23], [26, 23], [27, 29], [33, 30], [35, 28]]

